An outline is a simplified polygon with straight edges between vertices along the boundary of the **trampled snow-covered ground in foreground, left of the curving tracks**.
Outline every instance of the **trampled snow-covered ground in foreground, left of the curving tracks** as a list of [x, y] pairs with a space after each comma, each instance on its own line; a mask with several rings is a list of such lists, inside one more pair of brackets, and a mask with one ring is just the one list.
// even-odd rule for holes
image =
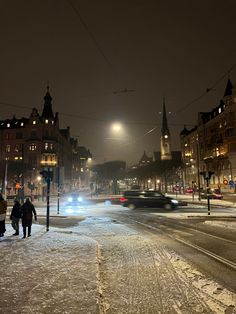
[[33, 225], [25, 240], [7, 225], [1, 313], [236, 313], [235, 293], [170, 247], [173, 240], [127, 221], [127, 212], [81, 209], [52, 218], [48, 233]]

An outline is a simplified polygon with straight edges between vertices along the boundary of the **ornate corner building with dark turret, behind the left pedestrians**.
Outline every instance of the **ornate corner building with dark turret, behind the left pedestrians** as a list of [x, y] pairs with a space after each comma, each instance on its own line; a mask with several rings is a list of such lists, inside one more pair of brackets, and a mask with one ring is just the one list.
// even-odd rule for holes
[[41, 115], [33, 108], [29, 118], [13, 116], [0, 121], [2, 190], [7, 176], [8, 193], [19, 192], [16, 186], [18, 189], [24, 187], [25, 193], [29, 193], [29, 188], [33, 188], [34, 194], [44, 193], [44, 183], [39, 175], [44, 167], [53, 169], [52, 188], [56, 189], [60, 180], [62, 190], [73, 189], [81, 179], [81, 165], [85, 169], [85, 160], [75, 158], [75, 152], [80, 156], [81, 151], [87, 161], [90, 152], [71, 139], [70, 128], [60, 129], [58, 113], [53, 113], [52, 97], [47, 87]]

